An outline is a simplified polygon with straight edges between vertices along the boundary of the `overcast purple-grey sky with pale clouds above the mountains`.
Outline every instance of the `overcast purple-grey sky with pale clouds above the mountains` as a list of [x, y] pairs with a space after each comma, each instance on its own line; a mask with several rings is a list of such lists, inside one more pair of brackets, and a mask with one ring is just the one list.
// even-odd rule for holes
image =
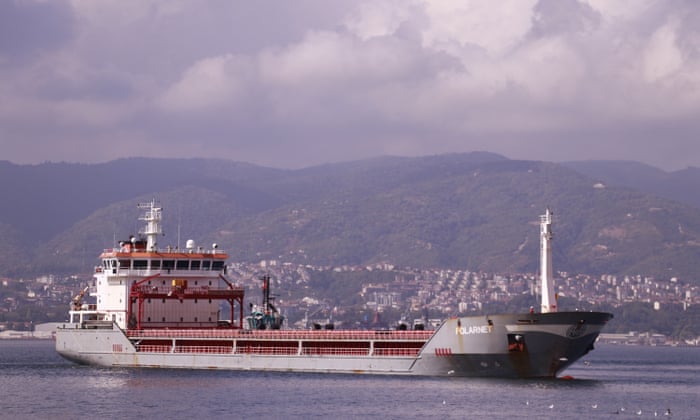
[[2, 0], [0, 160], [700, 167], [700, 2]]

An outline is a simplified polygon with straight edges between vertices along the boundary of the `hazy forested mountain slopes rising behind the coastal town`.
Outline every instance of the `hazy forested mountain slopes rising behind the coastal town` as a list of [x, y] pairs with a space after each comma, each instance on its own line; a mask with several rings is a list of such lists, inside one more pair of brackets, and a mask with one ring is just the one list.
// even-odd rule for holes
[[[650, 193], [676, 175], [623, 166], [486, 152], [299, 170], [207, 159], [0, 162], [0, 277], [89, 272], [100, 250], [138, 232], [136, 203], [156, 197], [161, 245], [217, 242], [233, 261], [536, 272], [537, 220], [549, 206], [558, 270], [700, 278], [700, 205]], [[700, 186], [691, 172], [689, 191]]]

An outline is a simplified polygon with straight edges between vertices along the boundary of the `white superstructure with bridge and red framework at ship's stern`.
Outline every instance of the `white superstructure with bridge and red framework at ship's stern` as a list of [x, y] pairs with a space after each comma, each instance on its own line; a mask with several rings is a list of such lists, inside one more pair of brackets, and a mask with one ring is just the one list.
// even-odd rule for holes
[[[102, 252], [90, 293], [96, 302], [82, 304], [83, 296], [76, 296], [71, 322], [114, 322], [123, 329], [215, 327], [221, 321], [221, 299], [213, 293], [234, 289], [224, 276], [228, 255], [216, 245], [195, 247], [192, 240], [184, 250], [159, 249], [162, 208], [155, 200], [138, 207], [145, 209], [140, 220], [146, 222], [140, 237]], [[225, 296], [232, 323], [233, 300], [242, 300], [233, 295]]]

